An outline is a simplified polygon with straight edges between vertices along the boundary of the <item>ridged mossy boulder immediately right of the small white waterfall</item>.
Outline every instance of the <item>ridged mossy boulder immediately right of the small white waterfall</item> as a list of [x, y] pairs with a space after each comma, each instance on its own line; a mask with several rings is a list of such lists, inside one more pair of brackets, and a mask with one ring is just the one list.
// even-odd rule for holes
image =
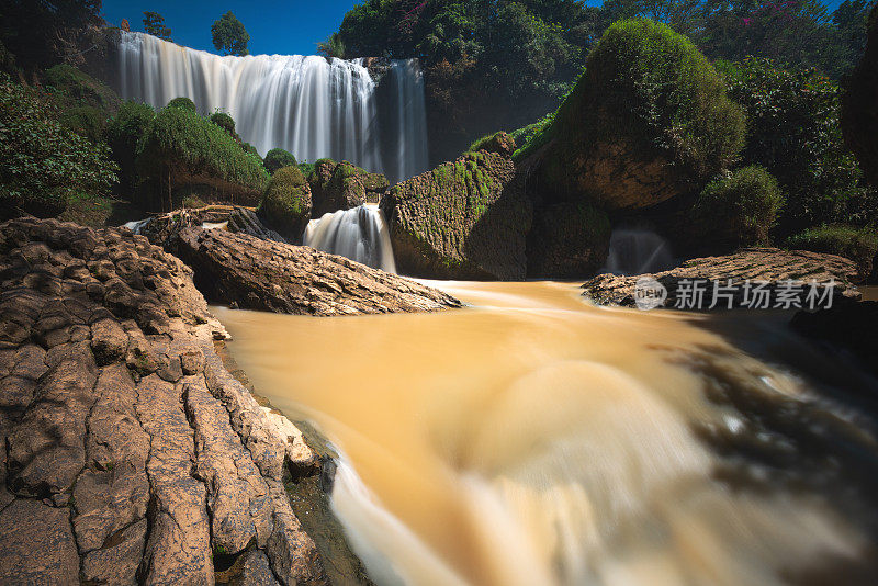
[[524, 173], [496, 153], [466, 153], [391, 188], [381, 201], [396, 266], [447, 279], [524, 279], [531, 203]]

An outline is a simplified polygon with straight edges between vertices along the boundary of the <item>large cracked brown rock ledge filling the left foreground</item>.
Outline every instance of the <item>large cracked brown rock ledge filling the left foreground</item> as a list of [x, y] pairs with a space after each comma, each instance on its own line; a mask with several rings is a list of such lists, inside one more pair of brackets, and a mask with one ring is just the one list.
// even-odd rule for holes
[[0, 224], [0, 583], [329, 582], [284, 488], [322, 461], [223, 336], [145, 237]]

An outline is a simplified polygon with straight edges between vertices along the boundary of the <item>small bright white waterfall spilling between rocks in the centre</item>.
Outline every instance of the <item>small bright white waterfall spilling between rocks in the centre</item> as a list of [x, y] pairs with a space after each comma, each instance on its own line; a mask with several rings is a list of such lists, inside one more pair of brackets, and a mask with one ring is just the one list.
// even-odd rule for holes
[[376, 205], [339, 210], [312, 219], [302, 240], [305, 246], [317, 250], [347, 257], [373, 269], [396, 272], [387, 223]]

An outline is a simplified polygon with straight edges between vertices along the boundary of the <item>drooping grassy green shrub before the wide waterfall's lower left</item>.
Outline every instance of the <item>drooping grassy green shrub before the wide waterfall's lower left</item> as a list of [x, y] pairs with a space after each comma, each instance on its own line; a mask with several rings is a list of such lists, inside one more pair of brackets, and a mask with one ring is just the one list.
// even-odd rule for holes
[[219, 126], [189, 108], [170, 104], [138, 143], [136, 168], [143, 179], [167, 188], [169, 196], [177, 187], [202, 183], [233, 201], [236, 195], [256, 200], [268, 180], [262, 160], [241, 150]]

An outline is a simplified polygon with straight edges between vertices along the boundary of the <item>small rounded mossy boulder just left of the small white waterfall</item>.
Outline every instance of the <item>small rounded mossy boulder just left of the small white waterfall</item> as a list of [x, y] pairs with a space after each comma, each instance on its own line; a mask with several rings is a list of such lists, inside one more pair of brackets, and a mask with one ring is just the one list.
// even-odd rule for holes
[[299, 167], [283, 167], [268, 182], [259, 217], [291, 241], [302, 239], [311, 219], [311, 187]]

